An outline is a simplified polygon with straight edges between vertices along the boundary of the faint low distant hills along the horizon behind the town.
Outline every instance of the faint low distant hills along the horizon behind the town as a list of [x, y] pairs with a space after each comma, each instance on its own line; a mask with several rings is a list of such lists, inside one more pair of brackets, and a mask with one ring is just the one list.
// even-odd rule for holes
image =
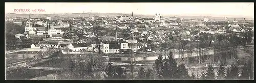
[[[72, 13], [72, 14], [30, 14], [30, 17], [38, 17], [38, 18], [46, 18], [49, 16], [62, 16], [65, 18], [73, 18], [73, 17], [92, 17], [92, 16], [99, 16], [99, 17], [114, 17], [117, 15], [127, 15], [131, 16], [131, 14], [123, 14], [123, 13]], [[133, 14], [134, 17], [145, 17], [145, 18], [154, 18], [155, 14], [152, 15], [138, 15], [138, 14]], [[203, 19], [203, 18], [208, 18], [208, 19], [216, 19], [216, 20], [225, 20], [224, 16], [223, 17], [212, 17], [212, 16], [180, 16], [180, 15], [163, 15], [164, 18], [169, 18], [172, 16], [176, 16], [178, 18], [183, 18], [183, 19]], [[8, 13], [6, 14], [6, 18], [12, 18], [12, 17], [22, 17], [22, 18], [28, 18], [28, 14], [15, 14], [15, 13]], [[233, 18], [228, 18], [229, 20]], [[236, 18], [237, 20], [243, 20], [242, 17]], [[254, 20], [253, 18], [246, 18], [247, 20]]]

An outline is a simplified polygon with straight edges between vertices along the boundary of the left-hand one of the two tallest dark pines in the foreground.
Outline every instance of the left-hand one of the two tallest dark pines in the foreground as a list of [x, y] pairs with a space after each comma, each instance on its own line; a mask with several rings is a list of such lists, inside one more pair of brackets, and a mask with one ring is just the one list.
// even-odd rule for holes
[[157, 77], [162, 79], [162, 68], [163, 68], [163, 57], [159, 54], [158, 58], [155, 60], [154, 69], [156, 70]]

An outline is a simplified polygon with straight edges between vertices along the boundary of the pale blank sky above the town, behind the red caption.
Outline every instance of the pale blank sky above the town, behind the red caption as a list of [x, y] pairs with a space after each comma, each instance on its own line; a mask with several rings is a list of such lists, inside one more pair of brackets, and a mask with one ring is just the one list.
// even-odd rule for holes
[[[46, 12], [14, 12], [45, 9]], [[5, 13], [131, 13], [155, 15], [254, 16], [254, 3], [5, 3]]]

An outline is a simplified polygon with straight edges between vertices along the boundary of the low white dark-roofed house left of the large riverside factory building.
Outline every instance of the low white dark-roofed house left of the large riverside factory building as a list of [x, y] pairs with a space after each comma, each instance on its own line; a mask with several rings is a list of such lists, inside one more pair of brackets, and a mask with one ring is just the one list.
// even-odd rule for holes
[[92, 51], [94, 46], [96, 44], [89, 44], [89, 43], [70, 43], [68, 48], [71, 49], [72, 51]]

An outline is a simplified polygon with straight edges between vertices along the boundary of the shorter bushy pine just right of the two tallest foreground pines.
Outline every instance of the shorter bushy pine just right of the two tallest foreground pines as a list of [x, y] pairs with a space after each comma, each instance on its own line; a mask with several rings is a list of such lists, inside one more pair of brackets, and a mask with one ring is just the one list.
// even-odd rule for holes
[[185, 64], [180, 64], [178, 66], [178, 71], [177, 71], [177, 76], [178, 76], [178, 79], [179, 80], [183, 80], [183, 79], [191, 79], [188, 72], [187, 72], [187, 69], [185, 68]]

